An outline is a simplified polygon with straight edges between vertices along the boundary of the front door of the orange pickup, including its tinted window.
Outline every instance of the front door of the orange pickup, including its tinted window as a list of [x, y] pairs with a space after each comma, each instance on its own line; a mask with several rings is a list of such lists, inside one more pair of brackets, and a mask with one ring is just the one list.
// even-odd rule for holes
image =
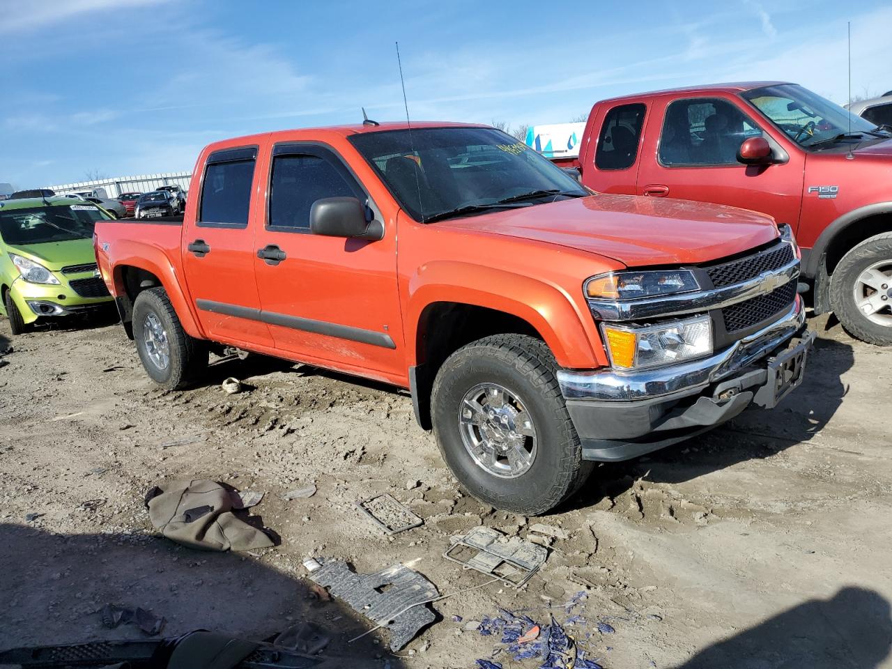
[[361, 376], [405, 376], [396, 230], [387, 229], [378, 241], [310, 232], [310, 208], [327, 197], [356, 197], [383, 220], [327, 145], [275, 145], [268, 184], [253, 261], [277, 349]]

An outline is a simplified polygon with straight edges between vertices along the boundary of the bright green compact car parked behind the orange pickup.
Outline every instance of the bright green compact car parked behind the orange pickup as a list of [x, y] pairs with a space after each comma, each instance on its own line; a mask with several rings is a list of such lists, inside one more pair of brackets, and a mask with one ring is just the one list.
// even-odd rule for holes
[[19, 335], [37, 318], [95, 310], [112, 301], [93, 251], [101, 207], [67, 197], [0, 202], [0, 311]]

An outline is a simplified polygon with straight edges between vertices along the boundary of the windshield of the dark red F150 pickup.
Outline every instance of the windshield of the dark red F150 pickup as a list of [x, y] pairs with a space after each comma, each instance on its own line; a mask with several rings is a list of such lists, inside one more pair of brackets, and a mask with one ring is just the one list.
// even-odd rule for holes
[[742, 95], [790, 139], [805, 148], [817, 145], [826, 148], [834, 140], [887, 135], [870, 121], [796, 84], [754, 88]]

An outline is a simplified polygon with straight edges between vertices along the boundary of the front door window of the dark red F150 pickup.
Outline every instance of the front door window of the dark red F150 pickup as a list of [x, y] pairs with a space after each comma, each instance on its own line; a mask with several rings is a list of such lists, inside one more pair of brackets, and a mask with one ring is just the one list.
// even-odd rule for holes
[[737, 152], [762, 130], [743, 111], [725, 100], [676, 100], [666, 108], [659, 160], [666, 167], [740, 165]]

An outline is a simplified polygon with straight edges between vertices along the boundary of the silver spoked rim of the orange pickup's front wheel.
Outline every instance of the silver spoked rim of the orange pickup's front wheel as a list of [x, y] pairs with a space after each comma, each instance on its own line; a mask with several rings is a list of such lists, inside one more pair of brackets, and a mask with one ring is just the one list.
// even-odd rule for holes
[[536, 427], [524, 402], [498, 384], [479, 384], [458, 408], [458, 429], [477, 467], [500, 478], [516, 478], [533, 467]]

